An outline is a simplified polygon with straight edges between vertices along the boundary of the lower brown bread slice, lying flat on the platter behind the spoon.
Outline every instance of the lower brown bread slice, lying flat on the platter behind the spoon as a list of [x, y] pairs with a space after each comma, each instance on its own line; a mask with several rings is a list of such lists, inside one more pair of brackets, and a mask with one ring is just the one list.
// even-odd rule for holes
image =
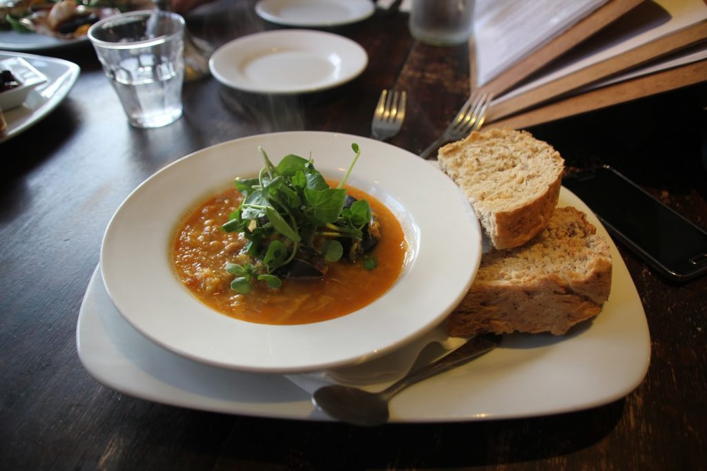
[[557, 208], [547, 227], [522, 247], [481, 257], [469, 293], [447, 319], [452, 336], [510, 332], [566, 333], [593, 318], [609, 297], [607, 240], [586, 215]]

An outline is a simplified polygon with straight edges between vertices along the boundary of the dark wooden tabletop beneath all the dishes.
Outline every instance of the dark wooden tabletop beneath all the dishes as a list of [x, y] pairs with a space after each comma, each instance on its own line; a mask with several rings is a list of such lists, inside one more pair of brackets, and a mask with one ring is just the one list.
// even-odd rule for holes
[[[254, 3], [222, 0], [194, 11], [189, 25], [214, 45], [276, 28]], [[226, 93], [210, 78], [187, 83], [185, 116], [153, 130], [129, 127], [90, 45], [45, 52], [82, 72], [51, 115], [0, 144], [0, 469], [706, 469], [707, 277], [671, 284], [623, 246], [650, 327], [650, 369], [628, 397], [595, 409], [360, 429], [160, 405], [86, 373], [76, 320], [101, 236], [153, 172], [262, 132], [368, 136], [378, 94], [392, 86], [409, 93], [392, 144], [418, 153], [464, 102], [467, 47], [415, 42], [404, 13], [335, 32], [370, 56], [351, 83], [291, 97]], [[694, 86], [530, 131], [568, 165], [612, 164], [707, 228], [705, 105], [707, 88]]]

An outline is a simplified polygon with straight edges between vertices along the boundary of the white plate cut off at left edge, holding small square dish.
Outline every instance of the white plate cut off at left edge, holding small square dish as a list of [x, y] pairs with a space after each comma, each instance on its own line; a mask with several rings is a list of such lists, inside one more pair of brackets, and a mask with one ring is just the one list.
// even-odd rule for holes
[[10, 57], [22, 57], [47, 77], [47, 81], [30, 91], [22, 106], [3, 112], [7, 133], [0, 136], [0, 142], [7, 141], [37, 124], [62, 103], [81, 71], [78, 65], [64, 59], [0, 51], [0, 60]]

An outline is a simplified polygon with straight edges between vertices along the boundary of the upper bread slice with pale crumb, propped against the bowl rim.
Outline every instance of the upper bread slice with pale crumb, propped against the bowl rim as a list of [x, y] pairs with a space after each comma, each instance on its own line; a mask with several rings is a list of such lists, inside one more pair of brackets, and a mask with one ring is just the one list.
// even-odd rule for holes
[[443, 146], [438, 160], [469, 198], [495, 248], [526, 243], [547, 225], [557, 205], [563, 158], [529, 132], [472, 132]]

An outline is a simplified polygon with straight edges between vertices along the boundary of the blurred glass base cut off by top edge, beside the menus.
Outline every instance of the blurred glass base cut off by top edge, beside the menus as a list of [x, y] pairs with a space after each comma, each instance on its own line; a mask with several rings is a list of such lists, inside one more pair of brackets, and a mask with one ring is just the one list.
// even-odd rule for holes
[[412, 0], [410, 33], [436, 46], [460, 45], [474, 27], [474, 0]]

